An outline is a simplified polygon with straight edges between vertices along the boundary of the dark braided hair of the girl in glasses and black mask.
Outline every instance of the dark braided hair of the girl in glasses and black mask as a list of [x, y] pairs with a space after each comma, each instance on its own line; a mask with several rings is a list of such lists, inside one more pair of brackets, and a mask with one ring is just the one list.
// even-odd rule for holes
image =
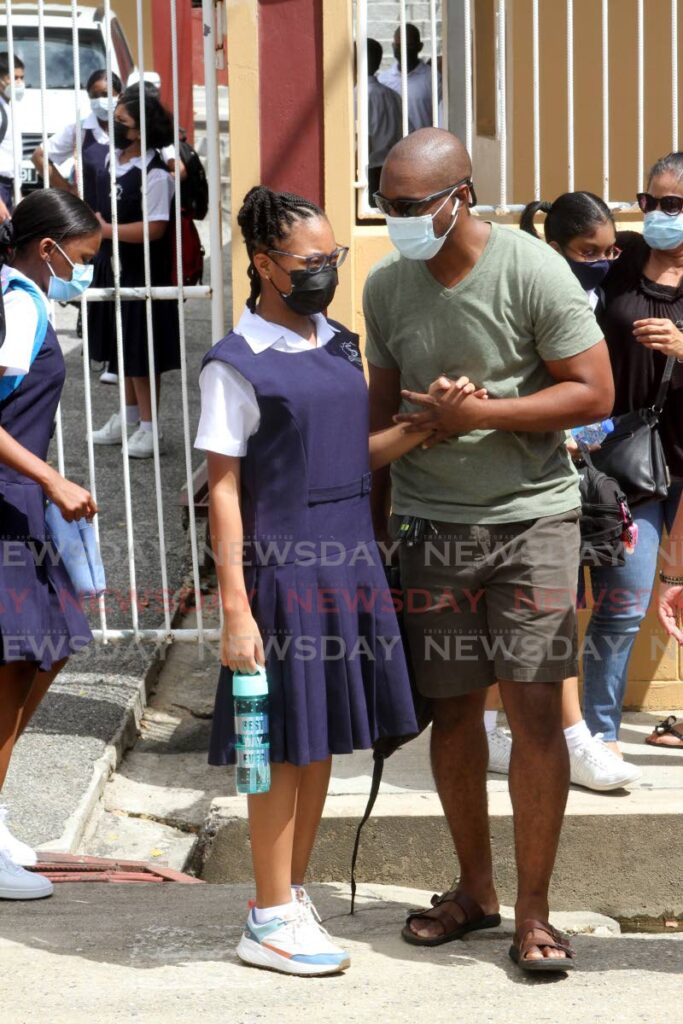
[[242, 209], [238, 214], [238, 224], [249, 254], [249, 281], [251, 292], [247, 306], [251, 312], [256, 310], [256, 300], [261, 294], [261, 279], [254, 266], [255, 252], [270, 249], [275, 243], [285, 239], [295, 220], [305, 217], [325, 216], [323, 210], [310, 200], [291, 193], [276, 193], [265, 185], [250, 188], [244, 198]]

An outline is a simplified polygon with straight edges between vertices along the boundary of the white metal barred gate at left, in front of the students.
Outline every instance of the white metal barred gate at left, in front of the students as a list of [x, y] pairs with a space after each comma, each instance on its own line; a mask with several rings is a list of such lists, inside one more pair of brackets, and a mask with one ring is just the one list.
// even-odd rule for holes
[[[14, 44], [13, 23], [19, 10], [18, 5], [12, 8], [12, 0], [5, 0], [6, 12], [6, 34], [7, 53], [10, 68], [13, 68], [16, 48]], [[22, 4], [22, 15], [37, 15], [37, 29], [39, 40], [39, 77], [40, 77], [40, 109], [42, 128], [42, 150], [44, 157], [43, 179], [45, 187], [49, 184], [49, 163], [48, 163], [48, 119], [47, 119], [47, 75], [45, 67], [45, 34], [46, 31], [46, 3], [45, 0], [37, 0], [33, 10], [27, 10], [27, 5]], [[147, 7], [148, 10], [148, 7]], [[71, 7], [63, 7], [59, 10], [60, 16], [71, 17], [72, 45], [74, 61], [74, 111], [73, 117], [77, 125], [83, 118], [83, 83], [81, 82], [80, 67], [80, 38], [79, 38], [79, 5], [77, 0], [71, 0]], [[180, 167], [179, 154], [180, 126], [179, 126], [179, 85], [178, 85], [178, 39], [176, 23], [176, 0], [169, 0], [169, 18], [171, 24], [171, 51], [172, 51], [172, 95], [173, 95], [173, 140], [176, 153], [174, 183], [175, 195], [180, 193]], [[49, 14], [53, 15], [54, 7], [50, 7]], [[111, 38], [112, 22], [111, 0], [103, 0], [102, 7], [102, 28], [104, 32], [104, 54], [105, 72], [108, 81], [108, 93], [113, 95], [113, 67], [112, 54], [114, 52]], [[145, 73], [144, 53], [144, 17], [145, 4], [143, 0], [136, 0], [137, 16], [137, 50], [140, 87], [143, 87]], [[148, 15], [147, 15], [148, 16]], [[110, 187], [112, 196], [112, 225], [113, 225], [113, 269], [114, 288], [90, 289], [81, 299], [81, 319], [83, 331], [83, 400], [85, 414], [85, 433], [87, 440], [87, 463], [88, 463], [88, 486], [93, 496], [97, 497], [97, 473], [95, 466], [95, 452], [93, 444], [93, 424], [92, 424], [92, 394], [90, 386], [90, 346], [88, 339], [88, 318], [87, 306], [90, 302], [113, 302], [115, 308], [116, 345], [119, 366], [119, 413], [122, 422], [126, 422], [126, 394], [124, 378], [124, 348], [123, 348], [123, 328], [121, 316], [121, 302], [140, 301], [145, 303], [145, 322], [147, 331], [147, 357], [150, 362], [150, 378], [152, 382], [152, 423], [153, 423], [153, 443], [154, 443], [154, 485], [156, 495], [156, 516], [158, 529], [158, 547], [156, 554], [159, 558], [159, 571], [162, 590], [162, 622], [157, 628], [142, 628], [139, 624], [138, 614], [138, 593], [137, 593], [137, 568], [136, 568], [136, 544], [135, 544], [135, 521], [132, 504], [132, 487], [130, 468], [128, 462], [128, 437], [126, 430], [122, 434], [122, 511], [125, 515], [126, 534], [126, 564], [129, 587], [130, 621], [111, 624], [108, 621], [108, 607], [105, 596], [99, 598], [97, 602], [98, 628], [93, 630], [95, 638], [101, 643], [120, 641], [125, 639], [164, 641], [164, 640], [185, 640], [203, 643], [206, 640], [215, 640], [219, 636], [219, 630], [206, 629], [204, 627], [201, 600], [197, 601], [197, 628], [196, 629], [175, 629], [172, 627], [172, 614], [170, 606], [170, 581], [168, 573], [167, 544], [164, 516], [164, 489], [162, 485], [162, 465], [160, 459], [160, 435], [159, 435], [159, 410], [157, 408], [157, 393], [154, 386], [155, 379], [155, 349], [154, 349], [154, 319], [152, 300], [171, 301], [177, 303], [179, 338], [180, 338], [180, 402], [182, 413], [183, 428], [183, 460], [185, 485], [188, 494], [187, 514], [189, 519], [189, 547], [191, 559], [191, 579], [195, 593], [198, 598], [201, 595], [200, 589], [200, 552], [197, 541], [195, 507], [191, 501], [193, 496], [193, 434], [189, 419], [188, 387], [190, 382], [187, 373], [187, 351], [186, 351], [186, 324], [184, 300], [187, 298], [204, 299], [211, 303], [211, 338], [207, 338], [207, 348], [212, 340], [218, 339], [224, 332], [224, 297], [223, 297], [223, 263], [222, 263], [222, 232], [221, 232], [221, 176], [220, 176], [220, 138], [219, 138], [219, 117], [218, 117], [218, 88], [216, 79], [216, 68], [223, 67], [222, 50], [222, 4], [216, 0], [203, 0], [202, 19], [204, 37], [204, 60], [205, 60], [205, 84], [206, 84], [206, 131], [207, 131], [207, 177], [209, 181], [209, 233], [210, 233], [210, 284], [193, 287], [182, 285], [182, 231], [180, 217], [175, 218], [175, 245], [176, 245], [176, 274], [178, 286], [152, 285], [151, 251], [147, 228], [150, 224], [146, 183], [147, 168], [146, 161], [142, 160], [142, 219], [145, 225], [143, 255], [144, 255], [144, 282], [136, 287], [123, 288], [120, 284], [121, 258], [119, 251], [119, 224], [117, 214], [117, 179], [114, 150], [114, 112], [109, 113], [109, 160], [110, 160]], [[17, 54], [18, 55], [18, 54]], [[14, 83], [13, 75], [10, 72], [10, 102], [14, 103]], [[124, 87], [126, 83], [124, 82]], [[14, 106], [14, 111], [17, 108]], [[20, 108], [18, 109], [20, 113]], [[67, 120], [67, 119], [65, 119]], [[20, 126], [18, 118], [12, 119], [13, 127], [13, 150], [14, 150], [14, 194], [15, 201], [20, 199], [22, 181], [22, 142]], [[146, 153], [146, 131], [144, 102], [140, 102], [140, 135], [141, 152]], [[76, 179], [81, 197], [83, 196], [83, 154], [81, 131], [76, 131], [76, 152], [74, 154]], [[179, 207], [178, 207], [179, 209]], [[194, 383], [193, 383], [193, 386]], [[61, 410], [57, 410], [56, 420], [56, 444], [57, 461], [59, 471], [69, 474], [69, 465], [65, 464], [63, 434], [61, 429]], [[177, 499], [177, 496], [174, 496]], [[174, 500], [174, 505], [176, 500]], [[95, 528], [98, 538], [106, 546], [106, 527], [99, 523], [99, 517], [95, 517]], [[101, 532], [100, 532], [101, 531]], [[179, 583], [179, 581], [178, 581]]]

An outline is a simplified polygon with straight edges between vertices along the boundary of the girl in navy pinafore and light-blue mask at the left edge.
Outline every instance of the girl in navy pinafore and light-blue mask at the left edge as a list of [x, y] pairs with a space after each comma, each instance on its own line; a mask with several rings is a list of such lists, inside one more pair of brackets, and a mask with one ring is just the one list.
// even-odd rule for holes
[[[66, 372], [47, 300], [87, 287], [99, 243], [92, 211], [54, 188], [32, 193], [0, 227], [0, 788], [50, 683], [91, 640], [67, 570], [46, 547], [45, 498], [70, 521], [97, 511], [87, 490], [46, 462]], [[36, 854], [5, 816], [0, 807], [0, 898], [49, 896], [47, 879], [19, 866], [35, 864]]]

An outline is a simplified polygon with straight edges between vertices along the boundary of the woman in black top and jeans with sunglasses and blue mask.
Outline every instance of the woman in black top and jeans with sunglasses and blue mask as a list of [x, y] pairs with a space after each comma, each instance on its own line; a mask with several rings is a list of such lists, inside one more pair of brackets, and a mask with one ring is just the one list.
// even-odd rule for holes
[[[604, 285], [599, 314], [614, 374], [614, 414], [651, 406], [668, 355], [683, 359], [683, 153], [657, 161], [638, 202], [642, 236], [617, 236], [621, 259]], [[635, 552], [621, 567], [592, 573], [595, 606], [584, 653], [584, 715], [618, 752], [618, 728], [629, 659], [652, 593], [664, 527], [671, 528], [683, 490], [683, 366], [676, 365], [661, 417], [672, 476], [665, 502], [634, 513]], [[652, 666], [652, 670], [654, 665]]]

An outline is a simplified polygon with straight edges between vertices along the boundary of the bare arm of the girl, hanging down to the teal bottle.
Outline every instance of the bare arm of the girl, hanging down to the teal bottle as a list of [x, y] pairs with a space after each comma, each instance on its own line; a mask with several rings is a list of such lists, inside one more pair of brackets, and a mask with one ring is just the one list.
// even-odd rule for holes
[[207, 452], [209, 522], [223, 607], [220, 659], [233, 672], [255, 672], [265, 656], [242, 564], [241, 462], [236, 456]]

